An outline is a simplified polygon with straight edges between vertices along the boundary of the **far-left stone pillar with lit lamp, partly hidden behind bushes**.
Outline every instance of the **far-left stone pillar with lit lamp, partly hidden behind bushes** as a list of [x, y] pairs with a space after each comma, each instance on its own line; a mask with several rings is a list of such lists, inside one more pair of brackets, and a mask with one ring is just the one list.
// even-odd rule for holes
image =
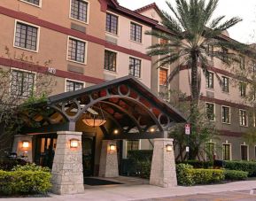
[[[24, 159], [26, 159], [28, 162], [33, 162], [32, 138], [33, 135], [15, 135], [12, 146], [12, 152], [17, 153], [17, 157], [24, 157]], [[24, 147], [25, 144], [27, 144], [28, 146]]]

